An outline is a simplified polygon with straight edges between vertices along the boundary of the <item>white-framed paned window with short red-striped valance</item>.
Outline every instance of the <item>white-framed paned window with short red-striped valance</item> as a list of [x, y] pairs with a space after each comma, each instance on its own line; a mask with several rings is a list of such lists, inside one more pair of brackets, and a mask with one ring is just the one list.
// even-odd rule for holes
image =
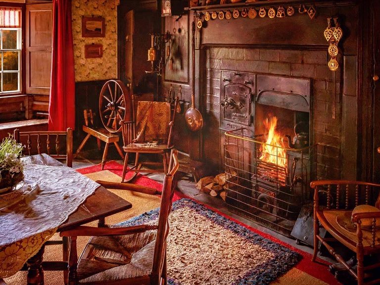
[[21, 91], [21, 9], [0, 7], [0, 95]]

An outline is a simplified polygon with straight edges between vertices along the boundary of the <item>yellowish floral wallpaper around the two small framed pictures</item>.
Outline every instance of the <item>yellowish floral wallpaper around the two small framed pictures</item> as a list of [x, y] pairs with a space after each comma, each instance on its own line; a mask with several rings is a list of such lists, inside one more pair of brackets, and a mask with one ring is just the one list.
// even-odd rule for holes
[[[75, 81], [117, 78], [117, 5], [119, 0], [73, 0]], [[105, 19], [104, 38], [82, 38], [82, 16]], [[85, 58], [85, 45], [103, 45], [103, 56]]]

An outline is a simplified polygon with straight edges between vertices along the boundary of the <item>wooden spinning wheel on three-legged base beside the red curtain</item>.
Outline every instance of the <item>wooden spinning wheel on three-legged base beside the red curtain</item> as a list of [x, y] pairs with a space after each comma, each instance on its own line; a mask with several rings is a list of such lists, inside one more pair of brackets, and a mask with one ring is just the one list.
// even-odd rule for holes
[[105, 142], [101, 169], [104, 168], [110, 143], [114, 143], [117, 152], [124, 159], [123, 151], [118, 144], [119, 135], [116, 133], [121, 130], [120, 121], [132, 120], [132, 103], [131, 96], [123, 82], [120, 80], [109, 80], [100, 91], [99, 115], [104, 128], [94, 126], [94, 115], [91, 109], [86, 109], [83, 113], [85, 116], [83, 131], [87, 133], [87, 136], [79, 145], [75, 156], [82, 150], [90, 137], [94, 136], [97, 139], [99, 149], [100, 141]]

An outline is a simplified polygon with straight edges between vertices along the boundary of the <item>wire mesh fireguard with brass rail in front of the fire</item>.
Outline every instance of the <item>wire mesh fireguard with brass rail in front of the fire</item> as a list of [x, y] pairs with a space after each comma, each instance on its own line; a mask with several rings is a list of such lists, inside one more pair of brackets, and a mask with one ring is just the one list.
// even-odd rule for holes
[[316, 146], [291, 149], [225, 133], [226, 203], [237, 214], [290, 237], [301, 207], [311, 200]]

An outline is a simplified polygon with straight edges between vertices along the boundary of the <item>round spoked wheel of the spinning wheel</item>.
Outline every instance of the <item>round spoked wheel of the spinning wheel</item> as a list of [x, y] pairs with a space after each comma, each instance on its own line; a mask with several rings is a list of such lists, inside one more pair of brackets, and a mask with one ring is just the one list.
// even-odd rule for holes
[[120, 130], [120, 121], [131, 118], [131, 98], [120, 80], [107, 81], [100, 91], [99, 114], [104, 127], [111, 133]]

